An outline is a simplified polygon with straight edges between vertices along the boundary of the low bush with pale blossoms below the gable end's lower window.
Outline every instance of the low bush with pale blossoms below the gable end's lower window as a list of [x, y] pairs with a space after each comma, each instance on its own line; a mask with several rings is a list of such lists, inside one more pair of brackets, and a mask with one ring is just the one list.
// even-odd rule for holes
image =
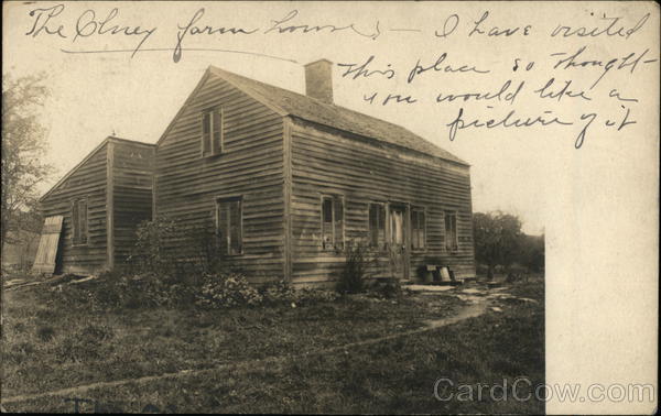
[[205, 274], [196, 304], [207, 308], [229, 308], [262, 303], [263, 296], [238, 273]]

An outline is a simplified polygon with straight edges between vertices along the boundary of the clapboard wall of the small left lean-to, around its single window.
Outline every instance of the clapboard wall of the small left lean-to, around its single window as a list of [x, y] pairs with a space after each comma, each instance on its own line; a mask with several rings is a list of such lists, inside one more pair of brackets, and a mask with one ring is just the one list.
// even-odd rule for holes
[[[44, 217], [64, 217], [56, 273], [95, 273], [107, 267], [107, 151], [108, 142], [104, 142], [41, 199]], [[88, 239], [86, 244], [74, 245], [72, 201], [82, 197], [87, 197]]]

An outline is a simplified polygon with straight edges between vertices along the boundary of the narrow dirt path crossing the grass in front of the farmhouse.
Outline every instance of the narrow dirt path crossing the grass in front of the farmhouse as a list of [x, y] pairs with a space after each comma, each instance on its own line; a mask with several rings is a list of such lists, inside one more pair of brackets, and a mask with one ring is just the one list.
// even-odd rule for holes
[[124, 379], [124, 380], [116, 380], [116, 381], [109, 381], [109, 382], [91, 383], [91, 384], [86, 384], [86, 385], [79, 385], [76, 387], [56, 390], [53, 392], [25, 394], [25, 395], [19, 395], [19, 396], [7, 397], [7, 398], [2, 397], [1, 403], [3, 405], [6, 405], [6, 404], [10, 404], [10, 403], [19, 403], [19, 402], [25, 402], [25, 401], [30, 401], [30, 399], [43, 398], [43, 397], [50, 397], [50, 396], [79, 395], [80, 393], [86, 393], [86, 392], [88, 392], [90, 390], [95, 390], [95, 388], [117, 387], [120, 385], [131, 384], [131, 383], [140, 385], [140, 384], [150, 383], [155, 380], [176, 379], [176, 377], [188, 376], [188, 375], [202, 375], [202, 374], [206, 374], [206, 373], [214, 372], [214, 371], [232, 370], [232, 372], [236, 372], [236, 371], [245, 372], [245, 371], [249, 371], [249, 370], [257, 370], [261, 366], [266, 366], [269, 364], [273, 364], [273, 363], [278, 363], [278, 362], [282, 362], [282, 361], [286, 361], [286, 360], [300, 359], [300, 358], [318, 355], [318, 354], [327, 354], [327, 353], [333, 353], [333, 352], [337, 352], [337, 351], [344, 351], [344, 350], [356, 348], [356, 347], [375, 344], [375, 343], [379, 343], [379, 342], [383, 342], [383, 341], [388, 341], [388, 340], [392, 340], [392, 339], [397, 339], [397, 338], [401, 338], [401, 337], [409, 337], [409, 336], [416, 335], [416, 333], [432, 331], [432, 330], [435, 330], [441, 327], [445, 327], [448, 325], [459, 322], [464, 319], [480, 316], [481, 314], [484, 314], [487, 310], [488, 304], [489, 304], [488, 299], [484, 298], [480, 302], [476, 302], [476, 303], [466, 305], [456, 315], [454, 315], [452, 317], [429, 320], [426, 322], [427, 327], [412, 329], [412, 330], [402, 331], [402, 332], [397, 332], [397, 333], [378, 337], [378, 338], [370, 338], [370, 339], [366, 339], [362, 341], [346, 343], [343, 346], [324, 348], [324, 349], [318, 349], [318, 350], [314, 350], [314, 351], [306, 351], [306, 352], [297, 353], [297, 354], [284, 354], [284, 355], [269, 357], [266, 359], [240, 361], [237, 363], [221, 364], [221, 365], [216, 365], [213, 368], [202, 369], [202, 370], [182, 370], [182, 371], [177, 371], [174, 373], [147, 375], [143, 377], [138, 377], [138, 379]]

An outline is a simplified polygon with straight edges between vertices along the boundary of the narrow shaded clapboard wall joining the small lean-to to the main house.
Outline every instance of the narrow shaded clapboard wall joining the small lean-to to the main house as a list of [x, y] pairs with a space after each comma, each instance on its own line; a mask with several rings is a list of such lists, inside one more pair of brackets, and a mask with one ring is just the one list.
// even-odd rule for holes
[[140, 222], [151, 219], [154, 145], [115, 141], [112, 157], [112, 241], [115, 265], [126, 263]]

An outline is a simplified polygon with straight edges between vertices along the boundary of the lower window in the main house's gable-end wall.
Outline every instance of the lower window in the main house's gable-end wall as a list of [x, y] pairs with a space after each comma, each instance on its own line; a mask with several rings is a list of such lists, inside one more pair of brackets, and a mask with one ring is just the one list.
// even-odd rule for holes
[[223, 254], [242, 253], [243, 223], [241, 198], [218, 199], [216, 201], [216, 231]]

